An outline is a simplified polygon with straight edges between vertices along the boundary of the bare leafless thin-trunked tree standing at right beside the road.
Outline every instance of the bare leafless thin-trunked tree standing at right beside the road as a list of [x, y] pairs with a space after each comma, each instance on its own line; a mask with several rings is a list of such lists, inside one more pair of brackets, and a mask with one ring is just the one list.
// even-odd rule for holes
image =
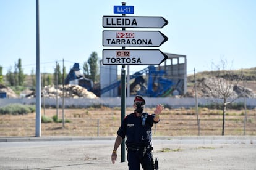
[[234, 87], [237, 87], [237, 84], [241, 80], [241, 75], [237, 76], [234, 74], [233, 70], [227, 70], [228, 62], [226, 60], [221, 60], [220, 65], [212, 64], [216, 71], [212, 71], [212, 75], [214, 77], [213, 83], [216, 87], [216, 92], [220, 99], [222, 100], [221, 108], [223, 111], [223, 124], [222, 124], [222, 135], [224, 135], [225, 129], [225, 115], [226, 115], [226, 108], [230, 105], [234, 100], [231, 99], [231, 94], [234, 92]]

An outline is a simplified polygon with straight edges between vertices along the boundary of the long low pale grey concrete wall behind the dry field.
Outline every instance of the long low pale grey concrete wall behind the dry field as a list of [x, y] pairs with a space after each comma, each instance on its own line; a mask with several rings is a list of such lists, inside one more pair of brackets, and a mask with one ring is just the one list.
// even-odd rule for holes
[[[126, 106], [131, 107], [133, 104], [134, 97], [127, 97]], [[158, 103], [168, 105], [172, 108], [179, 107], [195, 107], [195, 99], [194, 98], [151, 98], [145, 97], [147, 107], [155, 107]], [[41, 104], [43, 105], [45, 101], [45, 105], [56, 105], [56, 99], [47, 98], [45, 100], [41, 100]], [[221, 102], [221, 99], [213, 99], [213, 98], [199, 98], [198, 105], [210, 105], [211, 103]], [[231, 101], [231, 100], [229, 100]], [[62, 99], [59, 99], [59, 106], [62, 105]], [[36, 99], [0, 99], [0, 107], [8, 104], [20, 103], [23, 105], [35, 105]], [[109, 107], [121, 107], [121, 98], [120, 97], [101, 97], [98, 99], [88, 99], [88, 98], [80, 98], [80, 99], [72, 99], [66, 98], [64, 99], [64, 103], [66, 107], [88, 107], [91, 105], [106, 105]], [[235, 100], [233, 103], [244, 103], [244, 98], [239, 98]], [[256, 107], [256, 98], [247, 98], [246, 99], [247, 107], [255, 108]]]

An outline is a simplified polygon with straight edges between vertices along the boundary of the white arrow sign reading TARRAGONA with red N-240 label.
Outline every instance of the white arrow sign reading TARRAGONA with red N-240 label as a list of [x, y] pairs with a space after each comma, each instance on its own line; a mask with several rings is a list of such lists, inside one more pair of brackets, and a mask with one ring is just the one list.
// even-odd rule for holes
[[103, 31], [103, 46], [159, 47], [168, 40], [160, 31]]

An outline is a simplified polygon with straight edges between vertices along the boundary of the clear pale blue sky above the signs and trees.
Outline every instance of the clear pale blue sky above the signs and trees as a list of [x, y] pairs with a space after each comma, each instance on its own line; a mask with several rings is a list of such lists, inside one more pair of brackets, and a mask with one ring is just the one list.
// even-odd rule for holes
[[[74, 63], [80, 68], [92, 52], [102, 59], [104, 15], [114, 14], [113, 6], [134, 6], [127, 16], [161, 16], [168, 25], [159, 29], [168, 37], [160, 47], [163, 52], [186, 55], [187, 74], [211, 71], [212, 64], [226, 60], [230, 68], [256, 67], [255, 0], [39, 0], [40, 71], [53, 73], [56, 62], [67, 72]], [[119, 49], [119, 47], [115, 47]], [[130, 49], [138, 47], [130, 47]], [[121, 47], [120, 47], [121, 49]], [[22, 59], [24, 73], [36, 70], [36, 0], [0, 0], [0, 66], [3, 74], [14, 71]], [[134, 73], [147, 65], [130, 66]], [[118, 69], [121, 66], [118, 66]]]

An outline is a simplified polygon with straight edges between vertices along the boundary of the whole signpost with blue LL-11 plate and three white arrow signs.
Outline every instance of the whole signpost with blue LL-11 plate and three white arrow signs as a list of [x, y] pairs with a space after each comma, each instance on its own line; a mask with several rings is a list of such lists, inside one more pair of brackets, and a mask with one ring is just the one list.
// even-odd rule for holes
[[[114, 14], [103, 16], [103, 28], [122, 28], [122, 31], [103, 31], [103, 46], [120, 46], [122, 49], [103, 49], [103, 65], [122, 65], [121, 70], [121, 121], [126, 113], [125, 65], [160, 65], [168, 56], [158, 49], [126, 49], [134, 47], [159, 47], [168, 38], [160, 31], [126, 31], [126, 28], [163, 28], [168, 21], [163, 17], [128, 17], [134, 6], [114, 6]], [[128, 79], [129, 81], [129, 79]], [[129, 89], [129, 87], [127, 87]], [[125, 161], [124, 140], [121, 144], [121, 162]]]

